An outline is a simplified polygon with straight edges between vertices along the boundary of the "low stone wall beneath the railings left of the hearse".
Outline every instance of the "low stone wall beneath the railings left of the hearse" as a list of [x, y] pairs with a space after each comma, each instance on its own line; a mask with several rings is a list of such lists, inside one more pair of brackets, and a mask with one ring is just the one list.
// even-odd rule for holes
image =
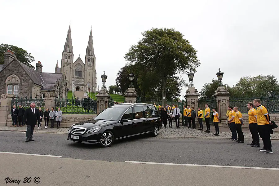
[[[71, 125], [88, 121], [91, 119], [94, 119], [97, 116], [97, 114], [63, 114], [62, 115], [62, 122], [60, 124], [60, 127], [70, 127]], [[12, 124], [11, 114], [8, 115], [7, 118], [7, 126], [10, 126]], [[44, 126], [45, 122], [44, 119], [42, 120], [42, 126]], [[48, 123], [48, 127], [50, 127], [50, 122]], [[54, 128], [56, 128], [56, 122], [54, 125]]]

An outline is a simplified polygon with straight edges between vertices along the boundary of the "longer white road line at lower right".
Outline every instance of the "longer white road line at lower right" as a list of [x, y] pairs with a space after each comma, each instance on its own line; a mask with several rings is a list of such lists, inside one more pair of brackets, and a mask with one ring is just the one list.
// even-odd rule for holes
[[157, 165], [179, 165], [179, 166], [203, 166], [203, 167], [222, 167], [222, 168], [238, 168], [238, 169], [279, 170], [279, 168], [266, 168], [266, 167], [245, 167], [245, 166], [224, 166], [224, 165], [198, 165], [198, 164], [135, 162], [135, 161], [125, 161], [125, 162], [126, 163], [141, 163], [141, 164], [157, 164]]

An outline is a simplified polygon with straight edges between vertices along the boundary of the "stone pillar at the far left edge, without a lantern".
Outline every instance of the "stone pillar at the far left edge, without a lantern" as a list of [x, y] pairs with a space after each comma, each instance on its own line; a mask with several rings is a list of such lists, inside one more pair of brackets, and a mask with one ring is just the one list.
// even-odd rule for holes
[[11, 114], [11, 100], [14, 95], [2, 94], [1, 97], [0, 126], [7, 126], [7, 118]]

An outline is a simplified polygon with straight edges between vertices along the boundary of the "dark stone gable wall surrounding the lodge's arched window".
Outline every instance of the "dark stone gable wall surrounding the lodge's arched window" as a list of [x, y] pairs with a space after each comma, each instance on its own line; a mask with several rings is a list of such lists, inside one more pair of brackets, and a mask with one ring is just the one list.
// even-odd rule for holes
[[20, 85], [19, 85], [19, 97], [30, 97], [32, 93], [32, 85], [33, 82], [29, 78], [28, 74], [20, 68], [19, 62], [14, 60], [11, 62], [9, 66], [0, 73], [0, 92], [7, 93], [7, 85], [5, 83], [7, 77], [10, 75], [15, 74], [17, 77], [20, 78]]

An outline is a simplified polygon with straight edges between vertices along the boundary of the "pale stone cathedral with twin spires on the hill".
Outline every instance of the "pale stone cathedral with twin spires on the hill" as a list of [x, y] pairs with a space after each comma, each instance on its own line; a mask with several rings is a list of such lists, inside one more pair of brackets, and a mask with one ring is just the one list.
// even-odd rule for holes
[[84, 62], [80, 56], [78, 56], [78, 59], [73, 62], [73, 45], [70, 24], [64, 50], [62, 52], [61, 67], [59, 68], [57, 61], [55, 73], [65, 73], [68, 90], [70, 91], [96, 91], [97, 76], [95, 69], [92, 28], [88, 39]]

